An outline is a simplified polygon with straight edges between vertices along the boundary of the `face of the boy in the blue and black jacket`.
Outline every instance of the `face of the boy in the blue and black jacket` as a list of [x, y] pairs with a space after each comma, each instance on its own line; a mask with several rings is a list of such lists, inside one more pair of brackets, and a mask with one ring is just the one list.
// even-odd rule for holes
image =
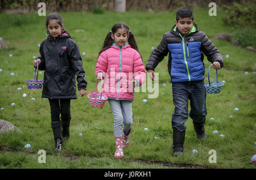
[[179, 18], [179, 21], [175, 20], [177, 28], [183, 35], [187, 35], [193, 27], [194, 21], [191, 18]]

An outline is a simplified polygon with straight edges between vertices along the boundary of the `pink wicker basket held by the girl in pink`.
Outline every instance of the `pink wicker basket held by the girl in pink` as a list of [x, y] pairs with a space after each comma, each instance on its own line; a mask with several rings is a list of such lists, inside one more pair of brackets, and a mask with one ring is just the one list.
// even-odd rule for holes
[[[90, 92], [87, 97], [89, 98], [90, 105], [94, 107], [102, 107], [104, 106], [106, 100], [108, 100], [108, 96], [105, 93], [97, 92], [98, 79], [96, 82], [95, 91]], [[102, 78], [101, 78], [101, 86], [102, 86]]]

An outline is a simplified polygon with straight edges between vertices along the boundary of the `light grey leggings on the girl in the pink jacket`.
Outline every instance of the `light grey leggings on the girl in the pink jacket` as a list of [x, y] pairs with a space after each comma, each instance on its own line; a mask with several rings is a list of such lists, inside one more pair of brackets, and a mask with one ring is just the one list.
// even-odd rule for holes
[[114, 116], [114, 136], [121, 137], [123, 134], [122, 125], [127, 133], [133, 125], [133, 111], [131, 101], [108, 99], [110, 108]]

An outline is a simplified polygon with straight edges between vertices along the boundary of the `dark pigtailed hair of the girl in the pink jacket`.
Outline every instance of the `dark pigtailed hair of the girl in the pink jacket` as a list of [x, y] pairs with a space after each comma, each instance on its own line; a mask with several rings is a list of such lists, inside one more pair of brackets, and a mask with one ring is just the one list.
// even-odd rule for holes
[[128, 25], [125, 24], [125, 23], [116, 23], [116, 24], [113, 25], [111, 31], [109, 31], [108, 34], [106, 35], [106, 38], [105, 38], [105, 41], [102, 45], [100, 53], [98, 53], [99, 55], [102, 52], [104, 52], [104, 50], [109, 49], [112, 46], [113, 39], [111, 37], [111, 34], [113, 33], [113, 35], [114, 35], [114, 33], [117, 32], [117, 29], [119, 29], [119, 28], [125, 28], [126, 29], [127, 35], [129, 35], [128, 43], [130, 44], [131, 48], [137, 50], [137, 52], [139, 53], [139, 49], [138, 49], [135, 37], [134, 37], [133, 33], [130, 31]]

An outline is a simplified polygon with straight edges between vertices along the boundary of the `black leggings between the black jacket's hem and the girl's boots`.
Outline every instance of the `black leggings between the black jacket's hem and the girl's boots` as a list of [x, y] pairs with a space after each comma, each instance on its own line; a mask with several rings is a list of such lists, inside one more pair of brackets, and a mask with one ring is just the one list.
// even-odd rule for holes
[[49, 99], [49, 104], [51, 106], [51, 119], [52, 122], [61, 121], [67, 122], [71, 119], [70, 112], [70, 99]]

